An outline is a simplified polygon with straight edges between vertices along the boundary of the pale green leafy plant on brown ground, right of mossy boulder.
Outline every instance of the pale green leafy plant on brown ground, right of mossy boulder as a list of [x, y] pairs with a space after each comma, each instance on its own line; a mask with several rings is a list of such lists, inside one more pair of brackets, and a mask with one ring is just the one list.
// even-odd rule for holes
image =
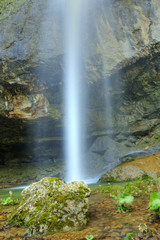
[[118, 206], [117, 211], [120, 213], [125, 213], [130, 210], [130, 205], [134, 200], [134, 197], [126, 192], [120, 193], [117, 196], [112, 195], [112, 197], [117, 201]]

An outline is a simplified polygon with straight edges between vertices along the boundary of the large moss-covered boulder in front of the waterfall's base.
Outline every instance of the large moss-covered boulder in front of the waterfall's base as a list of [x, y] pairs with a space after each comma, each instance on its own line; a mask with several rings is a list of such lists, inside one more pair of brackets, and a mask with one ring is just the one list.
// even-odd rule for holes
[[29, 235], [80, 230], [87, 223], [90, 189], [84, 182], [43, 178], [24, 189], [22, 196], [8, 222], [24, 225]]

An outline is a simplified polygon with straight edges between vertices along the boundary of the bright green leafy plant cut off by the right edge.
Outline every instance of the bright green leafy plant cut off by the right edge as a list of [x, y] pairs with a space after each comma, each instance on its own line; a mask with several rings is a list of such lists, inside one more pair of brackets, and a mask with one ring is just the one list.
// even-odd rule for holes
[[149, 209], [158, 212], [160, 216], [160, 192], [153, 192], [150, 194]]

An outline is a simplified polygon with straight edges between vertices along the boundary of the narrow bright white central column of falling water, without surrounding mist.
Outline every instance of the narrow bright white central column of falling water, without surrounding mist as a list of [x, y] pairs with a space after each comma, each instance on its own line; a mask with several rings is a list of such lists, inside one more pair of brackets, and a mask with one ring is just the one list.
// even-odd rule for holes
[[65, 159], [66, 181], [82, 180], [82, 24], [83, 0], [66, 0], [65, 24]]

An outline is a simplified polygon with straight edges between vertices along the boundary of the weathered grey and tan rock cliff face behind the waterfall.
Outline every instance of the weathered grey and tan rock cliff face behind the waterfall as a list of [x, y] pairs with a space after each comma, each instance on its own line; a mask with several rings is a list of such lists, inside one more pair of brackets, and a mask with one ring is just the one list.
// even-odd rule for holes
[[[36, 169], [30, 180], [63, 177], [64, 32], [58, 1], [53, 4], [51, 10], [45, 0], [26, 0], [9, 16], [1, 13], [1, 182], [5, 166], [11, 172], [20, 166], [15, 182], [26, 167]], [[159, 146], [159, 12], [158, 0], [88, 6], [85, 158], [91, 175], [95, 166], [98, 172], [111, 168], [130, 151]]]

